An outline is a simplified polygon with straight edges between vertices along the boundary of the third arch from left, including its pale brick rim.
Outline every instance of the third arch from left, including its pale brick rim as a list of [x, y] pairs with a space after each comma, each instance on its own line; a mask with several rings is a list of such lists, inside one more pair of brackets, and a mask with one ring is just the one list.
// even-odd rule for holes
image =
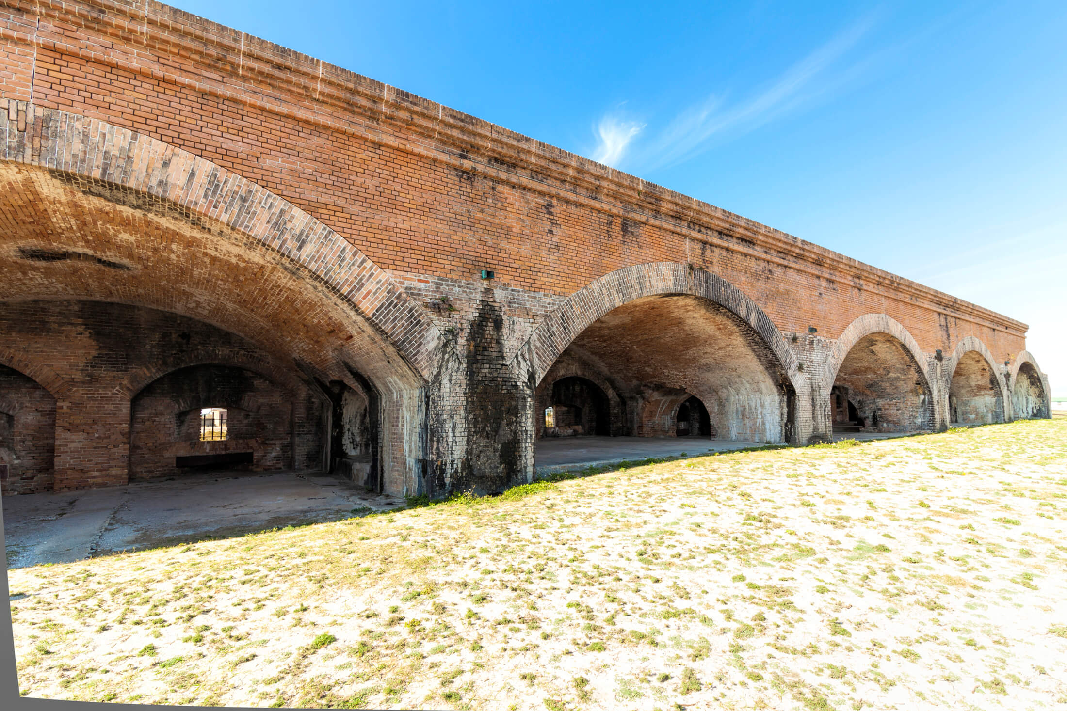
[[[860, 348], [869, 353], [861, 356]], [[893, 372], [887, 368], [894, 359], [906, 370], [898, 368]], [[911, 375], [907, 369], [912, 371]], [[844, 372], [846, 370], [848, 372]], [[857, 372], [854, 374], [853, 370]], [[839, 385], [842, 377], [849, 383]], [[906, 432], [938, 427], [935, 405], [938, 391], [926, 366], [926, 356], [908, 329], [887, 313], [865, 313], [848, 324], [838, 337], [823, 372], [823, 391], [832, 400], [839, 387], [844, 389], [838, 394], [847, 401], [848, 413], [855, 411], [860, 418], [859, 422], [846, 420], [849, 429]], [[864, 391], [864, 406], [854, 402], [849, 394], [853, 390]], [[843, 407], [835, 408], [831, 403], [831, 409], [843, 410]], [[834, 415], [831, 420], [841, 422]]]

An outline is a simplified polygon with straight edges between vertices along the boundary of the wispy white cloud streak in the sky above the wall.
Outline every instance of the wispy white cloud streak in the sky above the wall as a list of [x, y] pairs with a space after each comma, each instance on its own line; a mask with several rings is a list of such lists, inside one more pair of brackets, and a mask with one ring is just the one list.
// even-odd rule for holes
[[[841, 66], [845, 54], [856, 47], [873, 22], [873, 16], [867, 15], [839, 32], [754, 95], [730, 101], [726, 95], [712, 94], [685, 108], [662, 129], [640, 141], [639, 146], [635, 145], [626, 162], [642, 172], [678, 163], [706, 150], [713, 139], [751, 131], [832, 91], [855, 77], [865, 64], [851, 62]], [[619, 119], [616, 113], [605, 115], [598, 125], [599, 142], [590, 157], [618, 166], [642, 128]]]

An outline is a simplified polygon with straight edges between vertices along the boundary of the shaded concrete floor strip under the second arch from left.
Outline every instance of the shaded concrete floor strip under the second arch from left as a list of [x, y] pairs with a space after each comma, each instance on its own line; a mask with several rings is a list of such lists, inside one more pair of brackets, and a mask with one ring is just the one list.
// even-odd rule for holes
[[534, 469], [538, 475], [544, 475], [649, 457], [680, 456], [683, 453], [696, 456], [762, 446], [762, 442], [704, 437], [548, 437], [537, 441]]

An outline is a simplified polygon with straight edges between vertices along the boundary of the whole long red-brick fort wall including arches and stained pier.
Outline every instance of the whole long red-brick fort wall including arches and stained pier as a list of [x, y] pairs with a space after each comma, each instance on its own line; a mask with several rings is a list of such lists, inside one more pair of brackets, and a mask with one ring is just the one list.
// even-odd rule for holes
[[[166, 5], [16, 0], [0, 51], [5, 298], [211, 323], [325, 398], [365, 379], [391, 492], [526, 481], [538, 393], [571, 355], [636, 434], [671, 434], [695, 395], [719, 437], [803, 442], [871, 334], [926, 397], [886, 416], [935, 429], [947, 354], [977, 343], [1012, 373], [1025, 354], [1018, 321]], [[93, 357], [118, 372], [122, 354]], [[42, 384], [65, 357], [0, 350]], [[58, 481], [122, 479], [131, 393], [67, 385]], [[333, 418], [293, 402], [302, 432]]]

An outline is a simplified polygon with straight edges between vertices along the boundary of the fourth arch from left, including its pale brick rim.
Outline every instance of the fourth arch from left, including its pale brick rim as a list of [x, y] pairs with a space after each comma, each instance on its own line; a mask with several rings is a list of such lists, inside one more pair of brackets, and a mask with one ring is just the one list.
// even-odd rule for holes
[[[982, 379], [977, 373], [971, 372], [982, 363], [989, 369], [985, 379]], [[959, 374], [966, 376], [971, 381], [970, 383], [957, 379], [957, 371], [960, 368], [968, 369], [966, 374]], [[992, 353], [975, 336], [967, 336], [953, 349], [952, 356], [944, 362], [941, 387], [944, 392], [949, 393], [944, 401], [947, 410], [942, 414], [945, 422], [971, 424], [1004, 422], [1007, 419], [1008, 394], [1004, 378], [997, 367], [997, 360]], [[965, 387], [971, 392], [966, 394], [958, 392], [960, 388]], [[989, 395], [983, 392], [985, 389], [993, 392], [991, 401]], [[960, 402], [966, 400], [970, 400], [970, 402]]]

